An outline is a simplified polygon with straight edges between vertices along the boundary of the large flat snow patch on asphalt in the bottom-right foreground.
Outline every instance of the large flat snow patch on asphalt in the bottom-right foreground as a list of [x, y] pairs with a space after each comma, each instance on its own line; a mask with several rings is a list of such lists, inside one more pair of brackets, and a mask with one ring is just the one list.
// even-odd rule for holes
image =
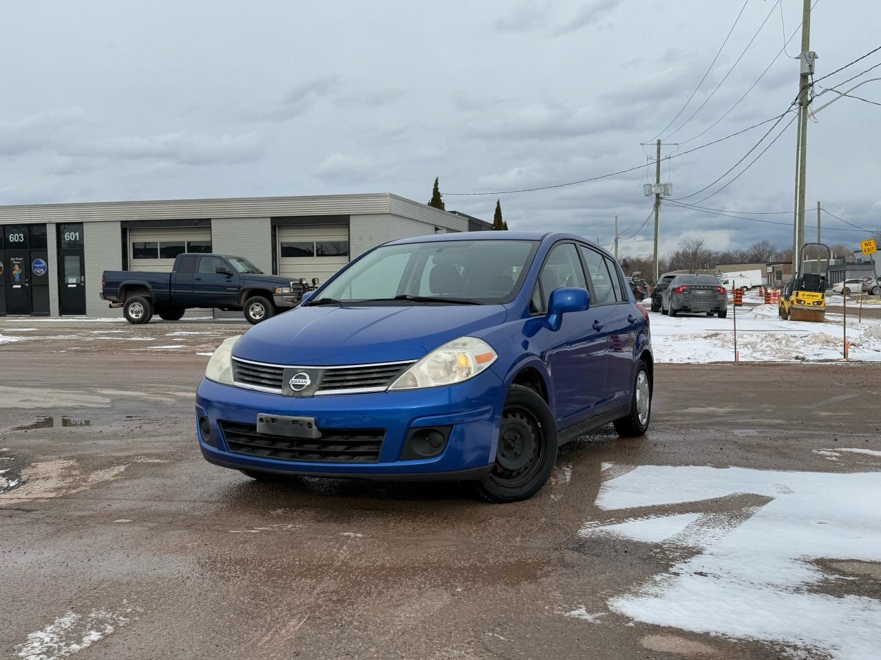
[[[756, 495], [766, 502], [757, 504]], [[881, 473], [640, 466], [606, 481], [596, 501], [626, 522], [581, 533], [700, 549], [612, 598], [615, 612], [785, 644], [798, 656], [870, 660], [881, 648], [881, 601], [853, 595], [854, 577], [826, 572], [819, 561], [881, 561], [879, 495]], [[670, 516], [667, 524], [663, 517], [627, 520], [630, 509], [681, 503], [700, 513], [691, 522], [692, 514]]]

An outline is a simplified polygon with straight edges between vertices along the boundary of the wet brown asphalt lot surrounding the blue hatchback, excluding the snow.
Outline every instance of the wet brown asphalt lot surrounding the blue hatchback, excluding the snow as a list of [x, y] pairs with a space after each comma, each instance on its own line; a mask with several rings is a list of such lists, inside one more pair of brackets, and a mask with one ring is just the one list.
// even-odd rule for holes
[[[786, 643], [611, 610], [690, 551], [582, 536], [656, 512], [601, 509], [601, 487], [640, 466], [881, 470], [814, 453], [881, 450], [877, 366], [658, 365], [648, 436], [567, 444], [529, 502], [461, 484], [258, 484], [204, 462], [193, 429], [197, 354], [245, 327], [0, 319], [29, 337], [0, 345], [0, 470], [20, 484], [0, 493], [0, 656], [779, 657]], [[818, 590], [881, 598], [877, 564], [845, 577]]]

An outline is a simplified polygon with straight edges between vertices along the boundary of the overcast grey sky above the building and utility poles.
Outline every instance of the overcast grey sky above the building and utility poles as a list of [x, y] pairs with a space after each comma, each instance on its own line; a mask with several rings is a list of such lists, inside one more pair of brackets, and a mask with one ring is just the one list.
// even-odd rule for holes
[[[496, 195], [451, 193], [538, 187], [646, 163], [652, 149], [640, 143], [655, 139], [685, 104], [743, 4], [4, 3], [0, 204], [362, 192], [426, 202], [440, 176], [448, 209], [491, 220]], [[707, 99], [770, 18], [718, 92], [666, 140], [681, 144], [665, 146], [664, 155], [787, 109], [798, 62], [781, 55], [728, 116], [685, 143], [759, 78], [781, 49], [781, 22], [793, 33], [801, 8], [799, 0], [747, 0], [722, 55], [668, 133]], [[881, 45], [879, 25], [877, 0], [819, 0], [811, 30], [817, 77]], [[789, 55], [799, 42], [800, 34]], [[877, 62], [881, 52], [822, 84]], [[881, 101], [881, 82], [855, 93]], [[811, 123], [809, 207], [821, 200], [849, 222], [881, 229], [879, 119], [881, 107], [841, 99]], [[770, 127], [665, 162], [673, 197], [707, 186]], [[792, 209], [795, 141], [793, 123], [701, 206]], [[700, 201], [739, 171], [685, 202]], [[651, 207], [642, 192], [648, 176], [653, 167], [499, 196], [511, 229], [574, 231], [608, 244], [615, 215], [624, 237], [650, 238], [651, 223], [634, 233]], [[808, 239], [815, 218], [811, 211]], [[826, 242], [866, 238], [834, 227], [847, 225], [824, 216]], [[792, 230], [663, 208], [662, 252], [683, 238], [706, 238], [715, 248], [767, 238], [785, 247]], [[648, 253], [650, 246], [633, 240], [621, 251]]]

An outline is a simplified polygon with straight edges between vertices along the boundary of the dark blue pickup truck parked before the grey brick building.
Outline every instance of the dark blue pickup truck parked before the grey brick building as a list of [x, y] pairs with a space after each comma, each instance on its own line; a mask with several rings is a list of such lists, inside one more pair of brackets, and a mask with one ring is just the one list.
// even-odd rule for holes
[[318, 281], [291, 282], [265, 275], [247, 259], [228, 254], [179, 254], [171, 273], [105, 270], [101, 298], [111, 307], [122, 307], [129, 323], [147, 323], [155, 312], [176, 321], [193, 307], [244, 311], [256, 324], [275, 313], [300, 304]]

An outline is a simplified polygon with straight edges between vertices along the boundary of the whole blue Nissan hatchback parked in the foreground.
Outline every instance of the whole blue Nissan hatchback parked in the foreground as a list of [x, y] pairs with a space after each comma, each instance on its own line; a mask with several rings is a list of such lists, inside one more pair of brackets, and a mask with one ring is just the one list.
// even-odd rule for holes
[[534, 495], [559, 444], [651, 413], [648, 312], [609, 253], [538, 232], [406, 238], [223, 342], [199, 445], [258, 480], [474, 480]]

